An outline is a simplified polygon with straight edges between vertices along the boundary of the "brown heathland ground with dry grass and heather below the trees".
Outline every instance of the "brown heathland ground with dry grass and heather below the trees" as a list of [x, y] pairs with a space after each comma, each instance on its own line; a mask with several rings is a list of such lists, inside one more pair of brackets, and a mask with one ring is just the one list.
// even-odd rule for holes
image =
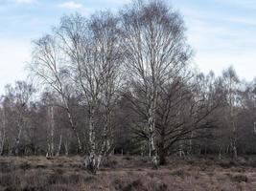
[[96, 176], [81, 157], [2, 157], [0, 190], [12, 191], [256, 191], [256, 157], [233, 161], [217, 157], [169, 159], [151, 169], [149, 159], [111, 157]]

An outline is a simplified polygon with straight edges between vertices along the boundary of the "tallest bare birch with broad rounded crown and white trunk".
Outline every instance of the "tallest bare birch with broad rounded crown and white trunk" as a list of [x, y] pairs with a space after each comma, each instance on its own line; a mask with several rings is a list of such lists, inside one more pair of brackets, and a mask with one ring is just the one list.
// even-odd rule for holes
[[131, 80], [143, 87], [152, 163], [157, 167], [155, 117], [160, 87], [186, 65], [191, 51], [180, 15], [161, 1], [136, 1], [121, 11]]

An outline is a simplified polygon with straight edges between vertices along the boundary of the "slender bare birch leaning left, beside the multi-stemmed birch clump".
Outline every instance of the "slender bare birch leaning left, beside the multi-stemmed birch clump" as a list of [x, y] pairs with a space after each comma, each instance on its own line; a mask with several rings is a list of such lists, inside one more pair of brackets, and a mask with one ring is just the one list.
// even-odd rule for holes
[[52, 87], [60, 96], [61, 105], [66, 111], [70, 127], [77, 138], [79, 152], [81, 152], [81, 138], [68, 104], [70, 84], [67, 85], [66, 83], [67, 76], [58, 50], [57, 40], [54, 36], [46, 35], [35, 41], [35, 50], [30, 69], [32, 74], [37, 76], [44, 84]]

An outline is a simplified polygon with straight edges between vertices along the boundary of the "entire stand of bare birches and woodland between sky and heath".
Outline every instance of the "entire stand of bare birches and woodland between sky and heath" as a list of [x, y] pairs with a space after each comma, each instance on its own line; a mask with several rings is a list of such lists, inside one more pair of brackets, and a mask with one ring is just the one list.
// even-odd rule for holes
[[111, 154], [167, 157], [254, 153], [256, 91], [234, 69], [200, 74], [182, 16], [165, 2], [63, 16], [34, 41], [34, 85], [1, 99], [1, 155], [85, 155], [96, 173]]

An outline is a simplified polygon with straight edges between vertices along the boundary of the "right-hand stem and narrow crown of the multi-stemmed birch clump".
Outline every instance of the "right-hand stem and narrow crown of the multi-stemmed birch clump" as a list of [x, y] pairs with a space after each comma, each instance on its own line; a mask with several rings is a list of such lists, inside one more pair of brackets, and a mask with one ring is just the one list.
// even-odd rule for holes
[[99, 62], [102, 65], [101, 105], [104, 114], [104, 131], [102, 148], [98, 165], [104, 156], [113, 149], [113, 110], [119, 97], [119, 91], [124, 79], [122, 78], [123, 50], [120, 47], [120, 30], [118, 19], [110, 12], [94, 14], [90, 20], [93, 38], [99, 47]]

